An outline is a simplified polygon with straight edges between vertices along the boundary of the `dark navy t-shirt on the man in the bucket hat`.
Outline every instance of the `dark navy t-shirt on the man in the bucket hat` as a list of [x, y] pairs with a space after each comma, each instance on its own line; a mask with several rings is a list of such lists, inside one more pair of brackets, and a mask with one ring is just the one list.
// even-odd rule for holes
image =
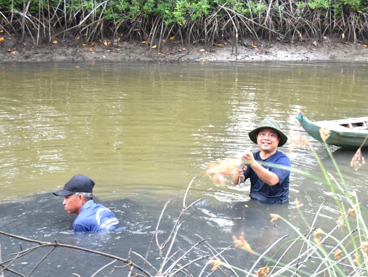
[[[251, 166], [247, 166], [244, 172], [245, 179], [251, 180], [251, 198], [256, 198], [266, 203], [282, 203], [288, 201], [289, 198], [289, 176], [290, 176], [290, 159], [282, 152], [276, 150], [276, 153], [267, 159], [262, 159], [260, 152], [253, 153], [256, 161], [269, 171], [275, 173], [278, 177], [279, 183], [270, 186], [258, 177]], [[288, 169], [277, 168], [273, 164], [287, 166]]]

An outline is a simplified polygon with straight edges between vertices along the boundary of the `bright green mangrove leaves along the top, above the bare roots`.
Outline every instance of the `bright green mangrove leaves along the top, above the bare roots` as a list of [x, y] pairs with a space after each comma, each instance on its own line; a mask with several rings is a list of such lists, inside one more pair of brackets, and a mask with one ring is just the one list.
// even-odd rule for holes
[[[213, 10], [220, 6], [224, 6], [236, 13], [245, 16], [263, 16], [268, 9], [268, 1], [266, 0], [109, 0], [107, 8], [103, 8], [100, 4], [103, 0], [31, 0], [28, 11], [30, 14], [42, 13], [47, 11], [52, 13], [56, 7], [60, 12], [64, 11], [62, 6], [65, 5], [66, 13], [73, 14], [79, 10], [85, 12], [93, 12], [96, 15], [101, 13], [106, 20], [116, 19], [118, 17], [127, 17], [134, 19], [136, 16], [148, 18], [150, 16], [165, 17], [166, 24], [183, 25], [187, 21], [195, 21], [200, 17], [208, 16]], [[27, 2], [24, 0], [0, 0], [0, 10], [8, 14], [12, 8], [17, 11], [23, 11]], [[353, 11], [358, 13], [367, 12], [368, 0], [302, 0], [291, 1], [296, 8], [298, 16], [305, 13], [307, 7], [312, 10], [322, 10], [324, 12], [331, 11], [338, 16], [341, 11]], [[272, 8], [276, 14], [283, 15], [285, 4], [275, 1]], [[221, 13], [220, 14], [225, 14]]]

